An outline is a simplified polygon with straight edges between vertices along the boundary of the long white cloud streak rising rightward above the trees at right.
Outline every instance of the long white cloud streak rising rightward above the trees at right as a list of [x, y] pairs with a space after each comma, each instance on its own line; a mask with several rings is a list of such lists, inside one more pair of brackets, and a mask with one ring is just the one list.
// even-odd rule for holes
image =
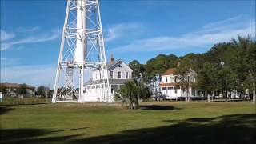
[[[217, 42], [229, 42], [231, 38], [238, 35], [252, 37], [255, 36], [255, 22], [240, 22], [240, 16], [228, 18], [222, 22], [206, 24], [201, 30], [193, 33], [183, 34], [179, 37], [154, 37], [138, 39], [126, 46], [118, 46], [114, 49], [116, 54], [121, 53], [141, 53], [161, 50], [178, 50], [184, 48], [206, 47]], [[225, 24], [225, 25], [224, 25]]]

